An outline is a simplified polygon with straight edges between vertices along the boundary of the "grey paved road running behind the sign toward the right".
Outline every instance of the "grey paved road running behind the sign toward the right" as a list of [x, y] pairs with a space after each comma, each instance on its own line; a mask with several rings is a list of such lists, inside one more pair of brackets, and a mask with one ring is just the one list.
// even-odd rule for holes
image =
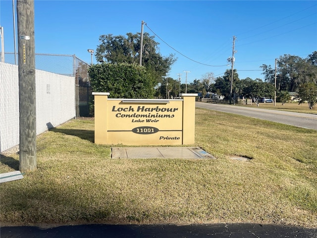
[[263, 109], [261, 108], [261, 104], [259, 108], [248, 108], [234, 105], [196, 102], [196, 107], [317, 130], [317, 115], [314, 114]]

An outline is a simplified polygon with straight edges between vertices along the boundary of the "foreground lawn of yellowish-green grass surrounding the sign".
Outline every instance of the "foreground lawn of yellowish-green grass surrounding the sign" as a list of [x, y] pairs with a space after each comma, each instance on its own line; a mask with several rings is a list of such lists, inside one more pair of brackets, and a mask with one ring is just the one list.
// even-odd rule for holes
[[[317, 227], [316, 130], [196, 109], [217, 159], [111, 159], [94, 120], [38, 136], [38, 169], [0, 184], [3, 224], [275, 223]], [[245, 156], [247, 162], [229, 159]], [[2, 156], [0, 173], [18, 170]]]

